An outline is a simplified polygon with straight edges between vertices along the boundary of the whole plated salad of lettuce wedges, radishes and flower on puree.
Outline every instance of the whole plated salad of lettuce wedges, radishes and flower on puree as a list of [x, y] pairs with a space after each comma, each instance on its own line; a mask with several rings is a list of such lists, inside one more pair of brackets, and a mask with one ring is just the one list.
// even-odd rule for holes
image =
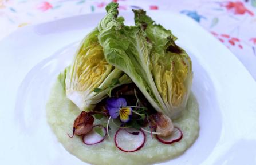
[[66, 150], [85, 162], [163, 162], [198, 137], [191, 59], [145, 11], [133, 10], [135, 25], [127, 26], [117, 7], [107, 5], [58, 75], [48, 123]]

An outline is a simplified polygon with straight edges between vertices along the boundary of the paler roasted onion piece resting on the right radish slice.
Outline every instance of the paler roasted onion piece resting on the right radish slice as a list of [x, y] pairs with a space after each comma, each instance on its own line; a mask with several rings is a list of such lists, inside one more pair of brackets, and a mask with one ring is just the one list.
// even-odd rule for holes
[[160, 133], [158, 136], [169, 136], [174, 130], [174, 124], [172, 120], [162, 113], [152, 114], [149, 116], [149, 120], [152, 126], [156, 127], [156, 132]]

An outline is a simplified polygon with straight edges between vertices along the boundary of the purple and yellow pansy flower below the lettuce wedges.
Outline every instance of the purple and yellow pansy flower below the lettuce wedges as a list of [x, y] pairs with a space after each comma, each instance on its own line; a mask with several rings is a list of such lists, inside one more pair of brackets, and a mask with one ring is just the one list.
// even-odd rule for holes
[[109, 98], [106, 103], [106, 108], [111, 118], [116, 119], [120, 116], [121, 122], [129, 122], [132, 108], [127, 107], [127, 102], [124, 98]]

